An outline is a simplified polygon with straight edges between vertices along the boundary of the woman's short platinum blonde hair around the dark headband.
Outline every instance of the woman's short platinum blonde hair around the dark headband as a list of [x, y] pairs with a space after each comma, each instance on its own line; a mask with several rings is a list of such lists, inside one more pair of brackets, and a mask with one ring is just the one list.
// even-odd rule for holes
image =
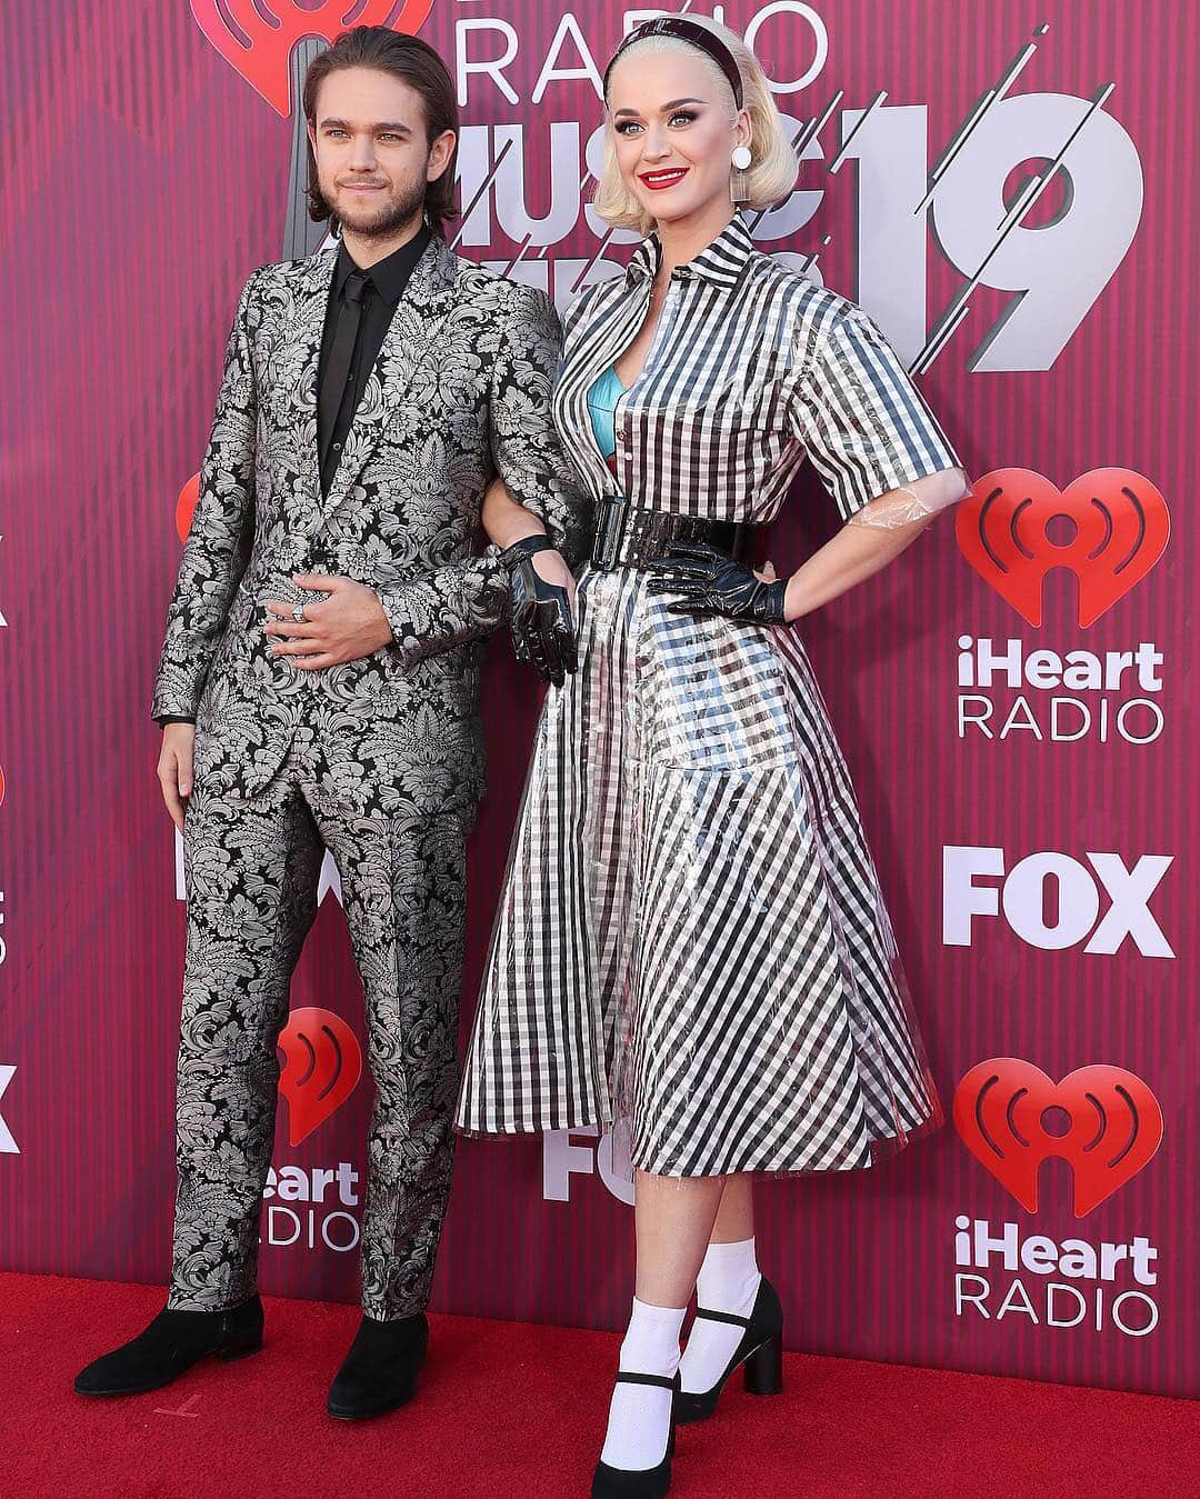
[[[751, 165], [746, 171], [746, 199], [742, 207], [770, 208], [796, 186], [799, 163], [796, 151], [791, 148], [784, 121], [775, 103], [775, 96], [767, 87], [766, 75], [754, 52], [742, 37], [719, 21], [706, 15], [689, 15], [689, 21], [712, 31], [731, 52], [737, 69], [742, 73], [742, 93], [746, 100], [746, 112], [751, 117]], [[737, 118], [737, 103], [730, 88], [730, 81], [719, 64], [701, 48], [694, 46], [673, 36], [647, 36], [641, 42], [634, 42], [628, 51], [637, 55], [650, 55], [667, 48], [685, 46], [698, 57], [709, 69], [722, 97], [728, 100], [730, 123]], [[625, 60], [625, 52], [620, 54]], [[605, 100], [607, 103], [607, 100]], [[649, 214], [637, 198], [625, 186], [617, 165], [616, 135], [613, 120], [604, 133], [604, 165], [601, 166], [599, 183], [592, 207], [614, 229], [637, 229], [638, 234], [649, 234], [655, 226], [653, 216]]]

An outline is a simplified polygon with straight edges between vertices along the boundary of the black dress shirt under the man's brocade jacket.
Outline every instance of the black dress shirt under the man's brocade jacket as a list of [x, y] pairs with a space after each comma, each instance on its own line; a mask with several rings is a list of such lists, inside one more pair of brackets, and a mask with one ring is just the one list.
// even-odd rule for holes
[[[422, 226], [407, 244], [401, 244], [399, 250], [393, 250], [385, 259], [376, 261], [369, 271], [360, 271], [346, 246], [339, 246], [330, 301], [325, 309], [325, 328], [321, 334], [321, 360], [316, 366], [316, 441], [321, 457], [322, 495], [328, 495], [330, 492], [330, 484], [337, 472], [342, 448], [346, 445], [346, 435], [351, 430], [354, 414], [358, 411], [358, 402], [363, 399], [367, 378], [375, 367], [375, 361], [379, 358], [384, 339], [396, 315], [396, 306], [409, 283], [409, 276], [412, 276], [416, 262], [425, 253], [428, 241], [430, 232]], [[337, 337], [337, 324], [345, 316], [348, 307], [346, 282], [355, 271], [367, 279], [363, 289], [358, 336], [354, 340], [354, 355], [351, 357], [351, 366], [342, 387], [342, 397], [336, 408], [337, 417], [328, 430], [325, 430], [327, 424], [321, 420], [322, 408], [325, 411], [333, 409], [333, 397], [337, 396], [336, 391], [325, 390], [325, 372], [330, 363], [330, 349]], [[156, 718], [154, 723], [163, 727], [166, 724], [193, 724], [195, 718], [169, 715]]]

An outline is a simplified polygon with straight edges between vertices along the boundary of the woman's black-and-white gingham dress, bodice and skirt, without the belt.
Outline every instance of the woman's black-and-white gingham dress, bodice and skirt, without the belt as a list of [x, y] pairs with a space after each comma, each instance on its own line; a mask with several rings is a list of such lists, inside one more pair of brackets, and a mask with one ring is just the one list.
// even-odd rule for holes
[[[770, 520], [809, 457], [849, 517], [959, 465], [875, 325], [740, 219], [644, 322], [655, 237], [566, 325], [556, 418], [589, 490]], [[616, 469], [616, 472], [614, 472]], [[475, 1018], [469, 1133], [628, 1121], [661, 1175], [867, 1166], [939, 1121], [845, 761], [800, 637], [584, 570], [580, 669], [538, 726]]]

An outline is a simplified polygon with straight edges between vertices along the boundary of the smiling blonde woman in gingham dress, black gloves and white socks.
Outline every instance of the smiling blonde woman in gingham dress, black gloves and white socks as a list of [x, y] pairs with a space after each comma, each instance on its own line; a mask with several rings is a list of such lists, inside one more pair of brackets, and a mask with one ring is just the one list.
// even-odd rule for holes
[[[596, 543], [578, 666], [538, 727], [458, 1126], [628, 1123], [637, 1294], [593, 1495], [650, 1496], [670, 1486], [674, 1421], [709, 1415], [739, 1364], [749, 1388], [779, 1388], [751, 1174], [869, 1166], [939, 1121], [790, 625], [966, 483], [873, 324], [754, 249], [736, 204], [785, 196], [796, 160], [746, 46], [707, 19], [652, 21], [617, 51], [605, 100], [596, 208], [653, 234], [568, 315], [556, 420]], [[806, 456], [848, 523], [790, 579], [754, 571]], [[565, 585], [527, 511], [491, 496], [485, 525], [521, 600]]]

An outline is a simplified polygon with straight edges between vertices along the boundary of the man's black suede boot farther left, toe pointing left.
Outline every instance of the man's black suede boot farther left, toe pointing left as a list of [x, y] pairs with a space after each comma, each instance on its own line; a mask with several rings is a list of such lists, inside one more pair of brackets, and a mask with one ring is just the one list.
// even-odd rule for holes
[[258, 1297], [228, 1312], [159, 1312], [132, 1342], [97, 1358], [75, 1376], [81, 1396], [136, 1396], [159, 1390], [211, 1354], [222, 1363], [262, 1348]]

